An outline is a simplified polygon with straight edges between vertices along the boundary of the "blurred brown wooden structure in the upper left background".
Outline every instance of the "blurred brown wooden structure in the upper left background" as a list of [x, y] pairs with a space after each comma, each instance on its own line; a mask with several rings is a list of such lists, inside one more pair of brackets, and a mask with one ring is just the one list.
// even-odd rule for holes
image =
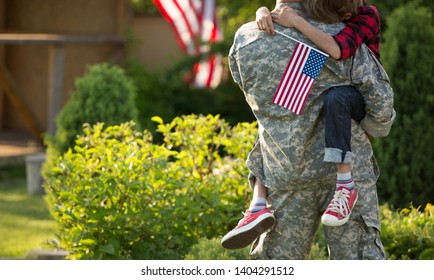
[[89, 65], [121, 62], [129, 0], [0, 0], [0, 133], [55, 133]]

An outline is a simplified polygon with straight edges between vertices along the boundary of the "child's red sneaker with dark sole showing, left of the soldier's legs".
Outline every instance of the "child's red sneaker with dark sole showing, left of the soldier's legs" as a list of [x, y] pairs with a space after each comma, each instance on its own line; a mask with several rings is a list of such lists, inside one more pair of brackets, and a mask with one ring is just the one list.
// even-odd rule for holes
[[269, 230], [274, 221], [274, 215], [268, 208], [255, 213], [247, 210], [238, 225], [223, 237], [222, 246], [226, 249], [244, 248]]

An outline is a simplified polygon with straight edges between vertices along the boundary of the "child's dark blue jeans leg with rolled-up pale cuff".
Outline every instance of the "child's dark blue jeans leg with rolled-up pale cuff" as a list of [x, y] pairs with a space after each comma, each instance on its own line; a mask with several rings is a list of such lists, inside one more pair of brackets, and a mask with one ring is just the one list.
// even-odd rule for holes
[[352, 86], [330, 89], [325, 96], [324, 161], [351, 163], [351, 119], [360, 122], [365, 116], [362, 95]]

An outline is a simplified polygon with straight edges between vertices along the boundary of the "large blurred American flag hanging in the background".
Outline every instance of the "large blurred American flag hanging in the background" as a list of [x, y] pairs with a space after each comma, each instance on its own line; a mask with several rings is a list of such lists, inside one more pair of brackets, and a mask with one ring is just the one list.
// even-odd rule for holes
[[222, 57], [210, 55], [210, 43], [223, 39], [217, 25], [215, 0], [152, 0], [172, 25], [181, 49], [192, 56], [204, 56], [194, 67], [193, 86], [215, 88], [222, 75]]

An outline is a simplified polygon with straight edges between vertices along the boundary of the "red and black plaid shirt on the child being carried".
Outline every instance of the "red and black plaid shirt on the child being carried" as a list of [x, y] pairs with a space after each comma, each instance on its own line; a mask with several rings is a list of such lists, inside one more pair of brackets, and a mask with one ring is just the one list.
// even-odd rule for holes
[[377, 8], [363, 1], [357, 14], [345, 23], [346, 27], [333, 36], [341, 49], [341, 59], [354, 55], [364, 42], [380, 60], [380, 14]]

